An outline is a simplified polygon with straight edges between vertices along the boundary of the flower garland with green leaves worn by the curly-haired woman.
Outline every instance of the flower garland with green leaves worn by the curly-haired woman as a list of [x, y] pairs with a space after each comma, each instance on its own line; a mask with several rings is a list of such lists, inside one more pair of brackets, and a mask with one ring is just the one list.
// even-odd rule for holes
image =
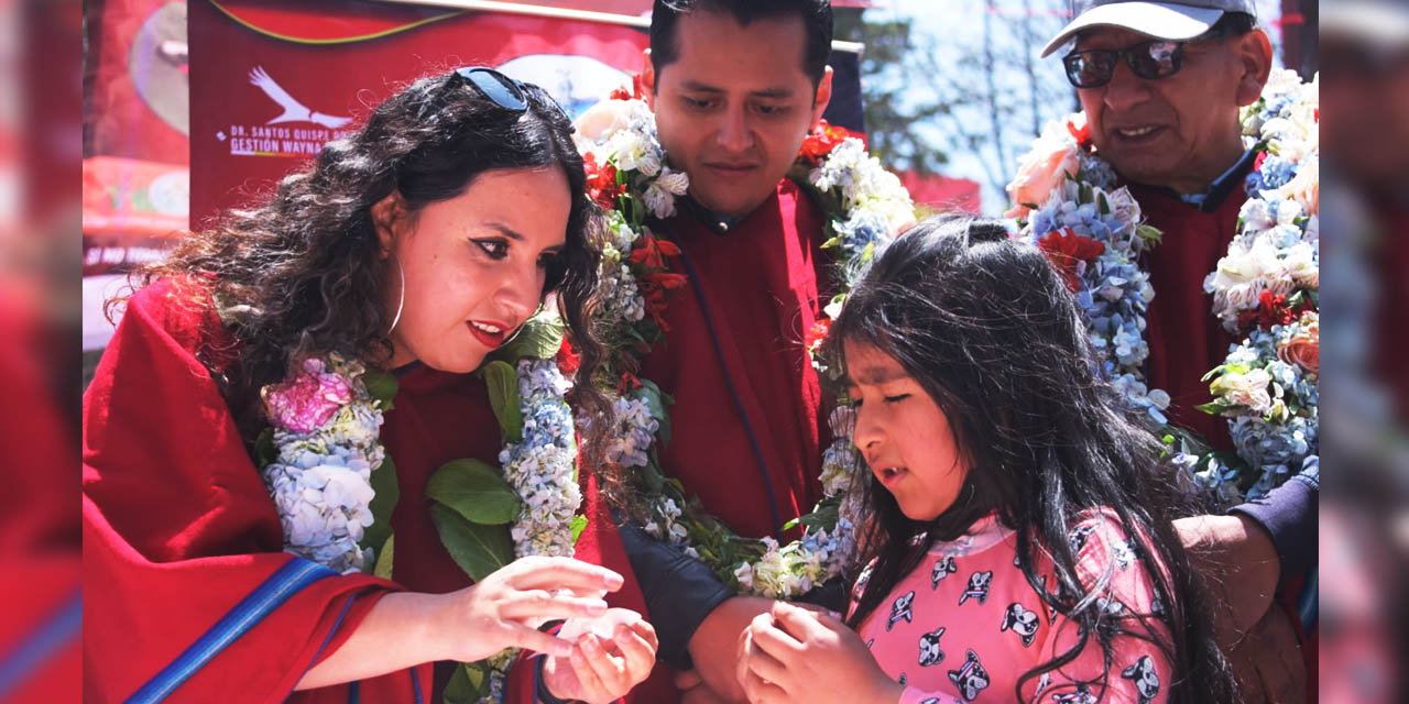
[[[565, 401], [572, 383], [551, 359], [561, 332], [554, 318], [531, 318], [480, 370], [506, 438], [502, 472], [454, 460], [427, 483], [441, 539], [476, 582], [516, 556], [571, 556], [586, 527], [576, 515], [578, 448]], [[261, 396], [272, 427], [261, 436], [256, 460], [279, 513], [285, 551], [342, 573], [368, 572], [379, 553], [376, 573], [389, 579], [397, 489], [379, 432], [396, 396], [395, 377], [330, 353], [306, 359]], [[462, 665], [447, 686], [447, 701], [503, 701], [516, 658], [517, 650], [506, 649]]]

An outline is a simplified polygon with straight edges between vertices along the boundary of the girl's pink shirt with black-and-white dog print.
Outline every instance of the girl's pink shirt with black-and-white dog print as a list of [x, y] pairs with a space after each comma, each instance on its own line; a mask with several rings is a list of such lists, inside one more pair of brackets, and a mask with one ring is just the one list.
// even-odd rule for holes
[[[1113, 514], [1093, 514], [1071, 531], [1078, 576], [1091, 589], [1110, 569], [1109, 586], [1098, 600], [1100, 608], [1147, 615], [1153, 631], [1134, 620], [1123, 625], [1165, 641], [1168, 629], [1155, 617], [1164, 605], [1146, 562], [1136, 558], [1124, 532], [1107, 515]], [[1079, 641], [1078, 624], [1043, 603], [1016, 566], [1016, 556], [1013, 531], [989, 514], [960, 539], [934, 543], [920, 566], [861, 622], [861, 639], [881, 669], [906, 686], [902, 704], [1014, 701], [1023, 673]], [[1051, 562], [1038, 559], [1038, 579], [1051, 584]], [[851, 610], [869, 570], [857, 580]], [[1075, 660], [1023, 683], [1023, 701], [1165, 701], [1171, 666], [1155, 643], [1122, 635], [1115, 639], [1113, 653], [1102, 681], [1102, 649], [1092, 636]]]

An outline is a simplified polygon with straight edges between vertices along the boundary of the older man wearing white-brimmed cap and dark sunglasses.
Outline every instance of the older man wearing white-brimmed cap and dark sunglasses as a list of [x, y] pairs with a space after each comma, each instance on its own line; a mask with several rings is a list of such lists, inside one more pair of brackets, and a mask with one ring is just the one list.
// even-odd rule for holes
[[[1196, 408], [1212, 400], [1203, 375], [1234, 342], [1209, 313], [1203, 279], [1227, 252], [1247, 200], [1254, 152], [1239, 108], [1262, 93], [1271, 42], [1253, 0], [1085, 0], [1043, 56], [1068, 44], [1062, 65], [1098, 152], [1164, 232], [1144, 262], [1158, 291], [1147, 318], [1147, 380], [1169, 393], [1171, 422], [1231, 449], [1226, 422]], [[1220, 641], [1244, 701], [1306, 696], [1293, 624], [1274, 594], [1315, 567], [1317, 493], [1312, 470], [1229, 515], [1177, 524], [1209, 582], [1222, 586]]]

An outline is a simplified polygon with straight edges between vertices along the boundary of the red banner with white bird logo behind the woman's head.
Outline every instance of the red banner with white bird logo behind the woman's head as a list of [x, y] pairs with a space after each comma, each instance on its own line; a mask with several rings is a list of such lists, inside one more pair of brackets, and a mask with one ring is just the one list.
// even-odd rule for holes
[[427, 73], [497, 66], [576, 114], [640, 70], [644, 30], [330, 0], [192, 0], [192, 225], [248, 203]]

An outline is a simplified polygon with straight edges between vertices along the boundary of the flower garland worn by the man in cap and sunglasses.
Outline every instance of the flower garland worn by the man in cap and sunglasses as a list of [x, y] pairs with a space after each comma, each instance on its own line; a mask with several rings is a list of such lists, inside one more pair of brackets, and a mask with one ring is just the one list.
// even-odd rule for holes
[[1092, 345], [1129, 407], [1165, 435], [1174, 460], [1227, 505], [1262, 496], [1317, 458], [1320, 322], [1317, 80], [1272, 73], [1243, 110], [1258, 153], [1239, 231], [1205, 280], [1213, 315], [1243, 338], [1205, 377], [1229, 420], [1236, 456], [1209, 452], [1164, 415], [1169, 397], [1144, 384], [1146, 311], [1154, 297], [1138, 256], [1160, 242], [1140, 206], [1096, 155], [1085, 115], [1050, 125], [1009, 184], [1020, 238], [1041, 248], [1076, 291]]

